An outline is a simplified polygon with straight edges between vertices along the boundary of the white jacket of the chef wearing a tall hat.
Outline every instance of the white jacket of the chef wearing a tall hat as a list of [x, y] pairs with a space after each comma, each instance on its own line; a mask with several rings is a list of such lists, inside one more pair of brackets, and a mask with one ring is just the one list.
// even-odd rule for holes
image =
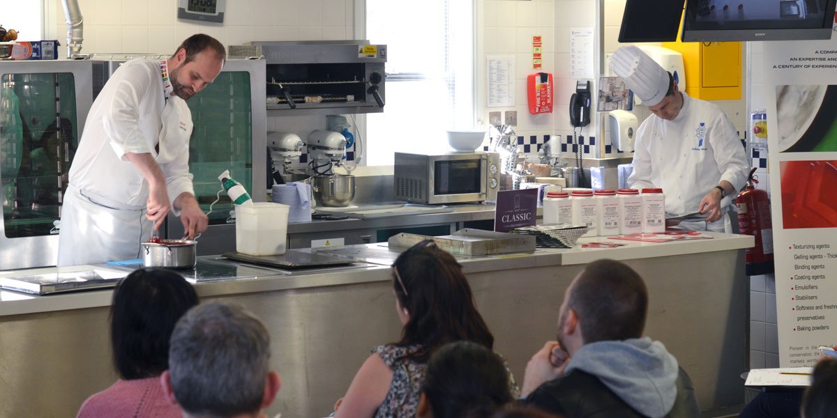
[[[716, 104], [686, 93], [674, 120], [650, 115], [639, 126], [633, 166], [628, 184], [661, 187], [666, 217], [698, 212], [703, 197], [721, 180], [741, 190], [749, 170], [732, 121]], [[721, 201], [721, 221], [731, 203], [730, 198]]]

